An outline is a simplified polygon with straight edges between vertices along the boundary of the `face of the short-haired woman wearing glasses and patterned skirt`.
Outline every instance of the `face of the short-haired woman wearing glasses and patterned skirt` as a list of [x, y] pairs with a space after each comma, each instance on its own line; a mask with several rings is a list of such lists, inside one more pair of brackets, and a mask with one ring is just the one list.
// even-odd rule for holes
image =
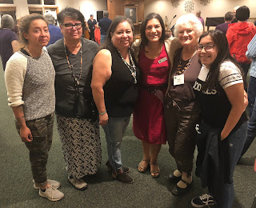
[[62, 30], [62, 34], [64, 39], [69, 42], [69, 41], [73, 41], [75, 39], [79, 39], [82, 37], [82, 27], [80, 29], [77, 29], [75, 26], [72, 26], [72, 28], [70, 30], [68, 30], [66, 28], [66, 24], [76, 24], [76, 23], [81, 23], [79, 20], [75, 20], [74, 18], [70, 18], [70, 17], [66, 17], [64, 18], [63, 23], [61, 24], [61, 30]]

